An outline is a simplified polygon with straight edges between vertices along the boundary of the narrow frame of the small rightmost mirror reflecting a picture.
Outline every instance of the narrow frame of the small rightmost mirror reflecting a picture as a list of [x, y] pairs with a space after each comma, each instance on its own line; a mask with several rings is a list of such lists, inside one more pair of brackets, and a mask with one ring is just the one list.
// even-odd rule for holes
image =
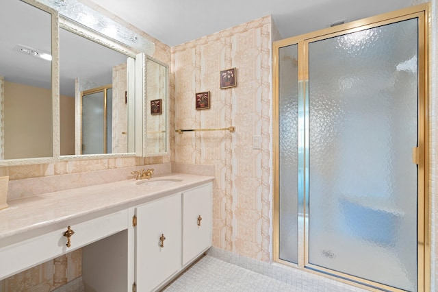
[[[153, 153], [149, 153], [147, 151], [147, 146], [148, 146], [148, 134], [147, 134], [147, 117], [148, 117], [148, 105], [149, 105], [149, 101], [148, 101], [148, 97], [146, 94], [146, 80], [147, 80], [147, 75], [148, 72], [146, 70], [146, 61], [147, 60], [151, 60], [159, 65], [164, 66], [164, 68], [166, 68], [166, 97], [163, 97], [166, 99], [166, 110], [164, 111], [164, 114], [166, 114], [166, 151], [163, 152], [153, 152]], [[164, 64], [163, 62], [152, 58], [151, 56], [148, 55], [144, 55], [144, 59], [142, 60], [143, 63], [143, 72], [144, 72], [144, 98], [143, 98], [143, 104], [142, 104], [142, 110], [143, 110], [143, 122], [142, 122], [142, 128], [143, 128], [143, 145], [142, 145], [142, 149], [143, 149], [143, 156], [144, 157], [151, 157], [151, 156], [163, 156], [169, 153], [170, 151], [170, 135], [169, 135], [169, 129], [170, 129], [170, 119], [169, 119], [169, 114], [170, 114], [170, 106], [169, 106], [169, 101], [170, 101], [170, 80], [169, 80], [169, 66], [167, 64]]]

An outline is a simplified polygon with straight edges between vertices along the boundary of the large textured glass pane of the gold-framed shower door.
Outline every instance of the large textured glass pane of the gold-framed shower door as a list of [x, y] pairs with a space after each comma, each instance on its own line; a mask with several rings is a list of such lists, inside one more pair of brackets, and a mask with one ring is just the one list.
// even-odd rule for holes
[[409, 19], [309, 42], [309, 265], [407, 291], [417, 291], [417, 39]]

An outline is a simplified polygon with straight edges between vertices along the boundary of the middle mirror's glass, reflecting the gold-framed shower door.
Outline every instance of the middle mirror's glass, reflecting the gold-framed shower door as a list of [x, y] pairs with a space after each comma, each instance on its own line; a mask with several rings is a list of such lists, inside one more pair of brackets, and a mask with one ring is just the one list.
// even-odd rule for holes
[[123, 53], [60, 29], [62, 156], [134, 151], [128, 143], [133, 64]]

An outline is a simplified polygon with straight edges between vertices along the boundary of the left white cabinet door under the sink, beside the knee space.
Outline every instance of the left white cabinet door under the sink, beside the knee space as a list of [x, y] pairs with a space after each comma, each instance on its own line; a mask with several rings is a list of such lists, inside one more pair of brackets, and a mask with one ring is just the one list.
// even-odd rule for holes
[[136, 209], [136, 282], [152, 291], [181, 269], [181, 193]]

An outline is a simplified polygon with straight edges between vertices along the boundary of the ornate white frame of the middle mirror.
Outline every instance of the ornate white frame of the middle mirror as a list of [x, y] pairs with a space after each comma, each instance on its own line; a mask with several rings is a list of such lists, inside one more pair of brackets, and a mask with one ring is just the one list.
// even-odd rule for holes
[[[67, 19], [66, 17], [60, 15], [60, 28], [62, 29], [66, 29], [69, 32], [72, 32], [73, 34], [77, 34], [79, 36], [82, 36], [83, 38], [87, 38], [88, 40], [91, 40], [93, 42], [98, 43], [99, 45], [103, 45], [105, 47], [108, 47], [110, 49], [113, 49], [114, 51], [118, 51], [119, 53], [123, 53], [125, 54], [127, 57], [131, 57], [132, 59], [129, 59], [128, 62], [132, 62], [131, 66], [134, 70], [136, 70], [136, 66], [138, 66], [138, 56], [136, 55], [136, 52], [133, 51], [133, 49], [122, 45], [119, 42], [116, 42], [114, 40], [111, 40], [110, 38], [107, 38], [106, 36], [103, 36], [102, 34], [99, 34], [98, 32], [95, 32], [94, 30], [80, 25], [79, 23], [75, 23], [74, 21], [70, 21], [69, 19]], [[135, 64], [133, 64], [135, 63]], [[129, 79], [128, 79], [129, 80]], [[135, 76], [135, 84], [138, 83], [138, 76], [137, 76], [137, 72], [136, 72], [136, 76]], [[129, 112], [133, 112], [133, 106], [134, 104], [137, 104], [137, 99], [138, 99], [138, 95], [142, 95], [142, 93], [138, 93], [138, 90], [136, 88], [136, 85], [133, 84], [133, 82], [129, 82], [128, 87], [129, 87], [129, 91], [131, 91], [132, 93], [135, 94], [135, 99], [128, 99], [128, 110]], [[78, 109], [78, 105], [75, 105], [75, 109], [76, 110], [80, 110], [80, 105], [79, 105], [79, 109]], [[134, 113], [134, 112], [133, 112]], [[116, 153], [116, 154], [81, 154], [81, 155], [67, 155], [67, 156], [60, 156], [60, 160], [61, 161], [68, 161], [68, 160], [90, 160], [90, 159], [103, 159], [103, 158], [118, 158], [118, 157], [137, 157], [139, 156], [138, 153], [136, 152], [136, 149], [138, 149], [138, 145], [134, 145], [133, 143], [137, 143], [137, 140], [140, 139], [136, 139], [135, 137], [137, 137], [137, 125], [138, 122], [136, 121], [138, 118], [138, 114], [137, 112], [135, 112], [134, 114], [131, 114], [131, 116], [133, 117], [129, 117], [129, 119], [131, 119], [131, 125], [134, 125], [134, 131], [131, 131], [133, 133], [129, 134], [128, 131], [128, 140], [131, 141], [129, 143], [131, 143], [131, 145], [133, 145], [134, 147], [134, 151], [133, 152], [129, 152], [129, 153]], [[75, 133], [75, 136], [77, 136], [81, 133]], [[141, 156], [141, 155], [140, 155]]]

